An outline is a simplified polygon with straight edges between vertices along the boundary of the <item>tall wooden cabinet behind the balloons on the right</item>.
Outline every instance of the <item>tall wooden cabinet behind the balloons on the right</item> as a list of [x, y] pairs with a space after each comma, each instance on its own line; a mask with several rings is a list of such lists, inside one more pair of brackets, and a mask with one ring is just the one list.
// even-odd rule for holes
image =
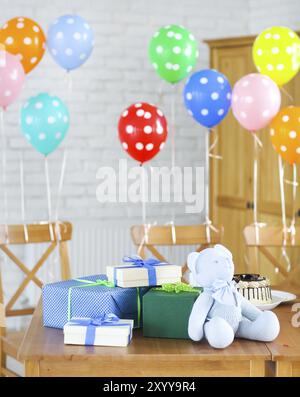
[[[254, 37], [208, 41], [211, 67], [224, 73], [231, 85], [242, 76], [254, 72], [252, 44]], [[300, 104], [300, 76], [285, 86]], [[282, 93], [283, 106], [291, 104], [291, 99]], [[224, 225], [224, 244], [232, 251], [237, 272], [245, 271], [247, 255], [242, 231], [253, 222], [253, 137], [243, 129], [230, 112], [216, 129], [219, 141], [215, 153], [222, 160], [211, 159], [210, 164], [210, 210], [212, 219]], [[259, 154], [258, 210], [259, 221], [268, 224], [281, 224], [281, 206], [278, 178], [278, 157], [270, 144], [267, 129], [259, 132], [263, 148]], [[211, 136], [211, 142], [215, 139]], [[291, 178], [291, 170], [286, 165], [286, 177]], [[286, 185], [288, 213], [291, 215], [291, 188]], [[298, 196], [299, 197], [299, 196]], [[299, 205], [300, 207], [300, 205]], [[281, 255], [277, 249], [276, 255]], [[289, 253], [290, 254], [290, 253]], [[292, 262], [300, 258], [299, 252], [290, 254]], [[284, 258], [283, 258], [284, 260]], [[280, 281], [280, 275], [264, 258], [260, 258], [261, 273], [268, 275], [273, 283]]]

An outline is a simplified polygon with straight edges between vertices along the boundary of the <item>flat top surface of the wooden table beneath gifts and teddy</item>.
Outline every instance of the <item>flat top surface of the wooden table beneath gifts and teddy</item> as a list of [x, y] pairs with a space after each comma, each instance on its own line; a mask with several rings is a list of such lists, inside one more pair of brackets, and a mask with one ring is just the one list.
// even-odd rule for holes
[[195, 357], [197, 360], [270, 360], [271, 354], [265, 343], [236, 339], [224, 350], [211, 348], [203, 340], [195, 343], [182, 339], [145, 338], [141, 330], [134, 330], [133, 339], [127, 347], [75, 346], [65, 345], [63, 331], [42, 326], [41, 303], [32, 317], [19, 350], [21, 360], [58, 360], [58, 359], [90, 359], [101, 356], [113, 357], [160, 356], [174, 358], [184, 356]]

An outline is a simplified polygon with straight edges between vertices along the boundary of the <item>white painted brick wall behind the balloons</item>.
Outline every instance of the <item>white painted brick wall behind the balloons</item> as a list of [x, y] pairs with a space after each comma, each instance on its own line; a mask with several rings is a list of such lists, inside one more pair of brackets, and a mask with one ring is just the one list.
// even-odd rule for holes
[[[172, 87], [155, 74], [147, 57], [151, 35], [162, 25], [183, 24], [199, 41], [200, 57], [197, 68], [208, 65], [208, 49], [204, 38], [243, 34], [248, 29], [246, 0], [1, 0], [1, 23], [25, 15], [35, 19], [47, 32], [49, 24], [64, 13], [78, 13], [86, 18], [95, 32], [92, 57], [72, 73], [73, 92], [69, 101], [71, 129], [62, 145], [69, 150], [60, 214], [71, 221], [125, 219], [127, 215], [140, 221], [139, 213], [125, 204], [100, 205], [95, 196], [96, 170], [101, 165], [117, 166], [125, 158], [118, 141], [117, 122], [121, 111], [133, 101], [144, 100], [162, 107], [170, 118]], [[187, 115], [181, 98], [183, 82], [176, 91], [177, 162], [182, 165], [203, 163], [203, 129]], [[162, 101], [159, 91], [162, 91]], [[63, 70], [46, 54], [38, 67], [27, 76], [22, 98], [11, 106], [6, 115], [9, 147], [9, 218], [20, 220], [18, 159], [22, 150], [25, 158], [26, 212], [28, 220], [47, 219], [44, 168], [42, 156], [34, 151], [21, 135], [19, 109], [25, 99], [38, 92], [49, 91], [67, 99], [67, 81]], [[174, 90], [173, 90], [174, 91]], [[50, 156], [52, 192], [55, 196], [62, 150]], [[135, 164], [130, 160], [131, 164]], [[170, 163], [170, 139], [165, 150], [152, 165]], [[53, 197], [53, 201], [55, 197]], [[130, 207], [130, 206], [129, 206]], [[153, 207], [153, 208], [152, 208]], [[155, 206], [147, 208], [157, 216]], [[162, 206], [163, 220], [169, 220], [171, 206]], [[183, 208], [176, 206], [182, 220]], [[151, 218], [150, 218], [151, 220]]]

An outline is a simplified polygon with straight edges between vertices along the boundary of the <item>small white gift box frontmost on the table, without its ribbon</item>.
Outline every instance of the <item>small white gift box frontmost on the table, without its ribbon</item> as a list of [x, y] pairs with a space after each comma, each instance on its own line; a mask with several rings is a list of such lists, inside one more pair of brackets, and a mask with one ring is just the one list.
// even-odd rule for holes
[[[76, 321], [88, 318], [72, 318], [64, 326], [64, 343], [66, 345], [86, 345], [86, 325], [76, 325]], [[123, 325], [122, 325], [123, 324]], [[128, 346], [132, 339], [133, 320], [120, 319], [114, 325], [98, 325], [95, 327], [94, 346]]]

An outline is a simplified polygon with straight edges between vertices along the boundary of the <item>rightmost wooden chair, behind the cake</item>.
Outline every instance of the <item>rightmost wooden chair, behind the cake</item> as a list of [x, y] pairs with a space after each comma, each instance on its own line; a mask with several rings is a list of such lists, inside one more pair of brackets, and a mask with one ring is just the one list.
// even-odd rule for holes
[[[297, 226], [294, 238], [291, 234], [287, 234], [286, 247], [299, 248], [300, 247], [300, 227]], [[270, 248], [283, 247], [284, 235], [281, 226], [263, 226], [258, 230], [259, 238], [257, 239], [255, 226], [246, 226], [244, 228], [244, 239], [248, 251], [248, 265], [247, 273], [259, 273], [259, 255], [261, 253], [265, 258], [277, 268], [279, 273], [284, 277], [284, 281], [280, 284], [281, 287], [287, 288], [291, 291], [300, 290], [300, 258], [299, 263], [289, 272], [280, 263], [280, 258], [277, 258], [270, 252]], [[258, 242], [257, 242], [258, 240]]]

